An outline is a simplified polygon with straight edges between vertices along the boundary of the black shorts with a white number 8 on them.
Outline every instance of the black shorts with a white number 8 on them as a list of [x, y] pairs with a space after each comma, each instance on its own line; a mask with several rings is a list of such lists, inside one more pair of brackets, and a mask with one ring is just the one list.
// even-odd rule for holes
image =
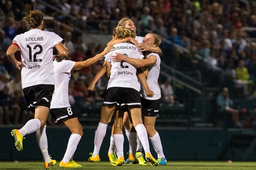
[[60, 124], [62, 120], [77, 118], [75, 112], [72, 111], [72, 107], [50, 109], [50, 114], [55, 119], [56, 124]]

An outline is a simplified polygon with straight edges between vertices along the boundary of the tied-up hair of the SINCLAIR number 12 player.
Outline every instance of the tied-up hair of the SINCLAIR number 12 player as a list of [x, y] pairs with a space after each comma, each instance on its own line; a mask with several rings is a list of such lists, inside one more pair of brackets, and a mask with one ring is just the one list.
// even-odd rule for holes
[[43, 13], [39, 9], [29, 11], [28, 16], [24, 17], [26, 23], [32, 28], [38, 27], [43, 21], [43, 18]]

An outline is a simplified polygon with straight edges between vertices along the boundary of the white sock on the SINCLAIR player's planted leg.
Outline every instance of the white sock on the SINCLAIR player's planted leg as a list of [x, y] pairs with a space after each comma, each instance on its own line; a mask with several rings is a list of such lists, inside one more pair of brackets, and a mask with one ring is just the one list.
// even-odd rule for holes
[[46, 136], [46, 125], [43, 128], [39, 128], [35, 133], [37, 137], [38, 146], [41, 149], [42, 155], [44, 157], [44, 161], [50, 162], [50, 156], [48, 153], [47, 136]]

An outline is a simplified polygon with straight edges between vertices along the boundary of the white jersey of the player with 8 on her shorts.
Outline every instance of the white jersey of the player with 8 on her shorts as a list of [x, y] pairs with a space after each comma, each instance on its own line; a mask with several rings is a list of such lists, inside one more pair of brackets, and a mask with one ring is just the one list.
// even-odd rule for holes
[[69, 80], [71, 70], [75, 61], [63, 60], [53, 61], [53, 71], [55, 76], [55, 86], [50, 109], [70, 107], [69, 104]]

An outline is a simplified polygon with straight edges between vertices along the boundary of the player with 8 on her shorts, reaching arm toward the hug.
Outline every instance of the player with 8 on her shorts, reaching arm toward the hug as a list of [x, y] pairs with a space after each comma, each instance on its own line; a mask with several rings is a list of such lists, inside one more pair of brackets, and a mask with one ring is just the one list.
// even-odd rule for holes
[[[103, 52], [89, 58], [86, 61], [70, 61], [62, 60], [61, 62], [53, 61], [53, 72], [55, 76], [55, 89], [53, 99], [50, 105], [50, 113], [56, 120], [57, 124], [63, 122], [71, 131], [66, 153], [59, 163], [59, 167], [82, 167], [73, 160], [73, 155], [77, 145], [83, 135], [83, 127], [80, 124], [77, 115], [72, 111], [69, 104], [69, 80], [71, 70], [78, 70], [84, 67], [91, 66], [108, 52], [113, 50], [113, 46], [107, 46]], [[61, 99], [61, 100], [60, 100]]]

